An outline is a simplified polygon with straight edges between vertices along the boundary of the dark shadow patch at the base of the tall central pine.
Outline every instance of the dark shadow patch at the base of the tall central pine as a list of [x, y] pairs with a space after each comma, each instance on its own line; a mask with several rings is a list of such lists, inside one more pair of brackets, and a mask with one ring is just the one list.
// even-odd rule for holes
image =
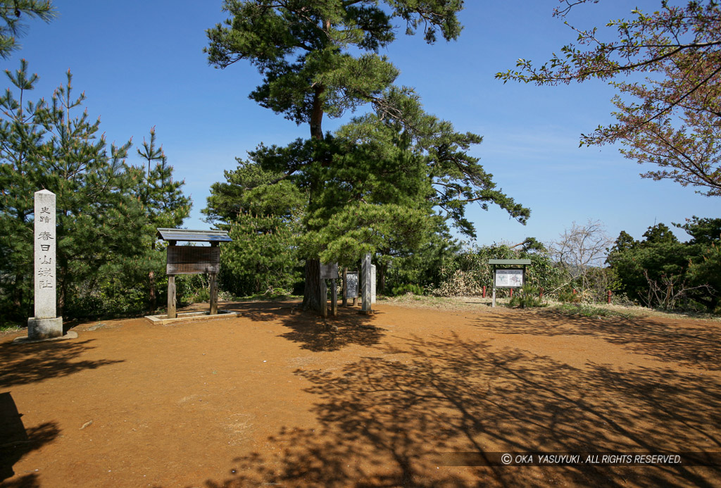
[[252, 302], [232, 303], [225, 309], [238, 311], [252, 321], [279, 321], [290, 329], [280, 334], [292, 342], [298, 342], [301, 349], [313, 352], [337, 351], [348, 345], [377, 345], [384, 336], [383, 327], [371, 324], [373, 317], [383, 313], [374, 311], [372, 316], [360, 314], [358, 307], [338, 307], [337, 316], [324, 319], [314, 312], [304, 312], [297, 302]]

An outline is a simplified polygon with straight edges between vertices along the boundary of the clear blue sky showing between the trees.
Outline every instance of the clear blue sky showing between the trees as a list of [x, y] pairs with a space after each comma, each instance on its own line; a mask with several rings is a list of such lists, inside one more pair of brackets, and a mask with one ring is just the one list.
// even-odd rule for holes
[[[205, 30], [225, 19], [221, 1], [55, 0], [59, 17], [32, 22], [13, 58], [25, 58], [40, 75], [35, 99], [49, 98], [65, 82], [68, 68], [76, 91], [87, 95], [87, 110], [101, 117], [109, 141], [133, 138], [139, 144], [155, 126], [159, 143], [185, 179], [193, 198], [185, 226], [207, 229], [200, 210], [213, 182], [235, 157], [258, 143], [286, 144], [306, 138], [296, 126], [247, 98], [260, 81], [255, 68], [236, 63], [225, 70], [208, 66]], [[639, 177], [653, 169], [624, 159], [613, 147], [578, 148], [580, 133], [610, 123], [611, 87], [600, 81], [537, 87], [494, 78], [514, 68], [516, 59], [536, 64], [575, 39], [552, 18], [557, 0], [466, 1], [464, 31], [453, 43], [427, 45], [420, 35], [399, 39], [384, 53], [402, 71], [397, 83], [415, 86], [425, 109], [454, 123], [456, 130], [483, 136], [471, 154], [481, 159], [498, 187], [531, 208], [526, 226], [503, 210], [474, 205], [469, 218], [479, 244], [517, 243], [526, 236], [552, 241], [573, 221], [606, 225], [611, 237], [625, 230], [637, 239], [648, 226], [683, 222], [691, 216], [717, 217], [719, 198], [697, 195], [691, 187]], [[658, 9], [660, 0], [634, 6]], [[580, 6], [570, 21], [578, 27], [604, 25], [629, 17], [627, 1], [603, 0]], [[3, 88], [8, 86], [6, 83]], [[324, 120], [324, 130], [347, 121]], [[130, 161], [141, 164], [133, 155]], [[683, 231], [676, 230], [681, 239]]]

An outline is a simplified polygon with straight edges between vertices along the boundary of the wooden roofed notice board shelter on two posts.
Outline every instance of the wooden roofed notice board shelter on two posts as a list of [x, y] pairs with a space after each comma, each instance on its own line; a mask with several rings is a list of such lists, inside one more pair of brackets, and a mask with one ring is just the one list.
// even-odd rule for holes
[[[167, 241], [168, 319], [177, 317], [175, 275], [207, 272], [211, 284], [211, 315], [218, 314], [218, 271], [221, 250], [218, 244], [231, 242], [226, 231], [194, 231], [190, 229], [158, 229], [158, 237]], [[177, 241], [208, 242], [208, 246], [178, 246]]]

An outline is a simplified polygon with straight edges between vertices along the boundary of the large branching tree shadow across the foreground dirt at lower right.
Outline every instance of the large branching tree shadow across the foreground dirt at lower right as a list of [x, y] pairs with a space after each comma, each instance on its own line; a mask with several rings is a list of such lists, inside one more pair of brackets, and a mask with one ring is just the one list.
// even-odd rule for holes
[[[441, 467], [439, 453], [721, 451], [721, 381], [672, 369], [583, 370], [486, 341], [415, 337], [341, 371], [298, 370], [322, 425], [281, 429], [227, 479], [246, 487], [710, 487], [721, 468]], [[391, 359], [392, 358], [392, 359]]]

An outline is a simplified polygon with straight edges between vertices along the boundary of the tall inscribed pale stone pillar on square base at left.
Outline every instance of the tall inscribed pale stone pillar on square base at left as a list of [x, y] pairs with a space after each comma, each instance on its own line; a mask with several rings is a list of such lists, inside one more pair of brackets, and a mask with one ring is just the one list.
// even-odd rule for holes
[[35, 192], [35, 316], [27, 319], [27, 337], [49, 339], [63, 335], [63, 317], [56, 316], [56, 203], [55, 193]]

